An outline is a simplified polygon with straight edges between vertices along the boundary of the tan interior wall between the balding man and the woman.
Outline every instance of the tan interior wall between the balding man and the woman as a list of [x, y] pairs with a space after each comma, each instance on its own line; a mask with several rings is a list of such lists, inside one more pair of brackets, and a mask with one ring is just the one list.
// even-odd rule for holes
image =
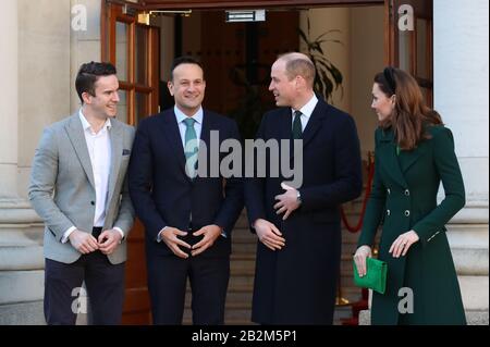
[[[333, 104], [348, 112], [356, 121], [363, 158], [375, 149], [373, 132], [377, 117], [372, 112], [372, 77], [383, 67], [384, 28], [383, 7], [328, 8], [303, 11], [301, 27], [307, 32], [310, 20], [310, 39], [322, 33], [338, 29], [327, 38], [340, 40], [342, 45], [323, 44], [322, 49], [343, 75], [343, 95], [333, 94]], [[306, 46], [301, 46], [305, 52]]]

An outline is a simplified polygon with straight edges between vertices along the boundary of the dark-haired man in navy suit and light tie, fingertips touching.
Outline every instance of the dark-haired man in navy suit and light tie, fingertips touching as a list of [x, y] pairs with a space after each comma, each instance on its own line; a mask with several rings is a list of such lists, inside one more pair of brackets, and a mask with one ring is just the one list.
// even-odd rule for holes
[[203, 110], [206, 82], [197, 61], [179, 58], [171, 74], [175, 107], [140, 122], [128, 169], [131, 198], [146, 228], [154, 323], [182, 323], [188, 277], [194, 324], [223, 324], [243, 182], [212, 174], [229, 153], [211, 148], [211, 138], [219, 134], [218, 145], [237, 142], [238, 128]]

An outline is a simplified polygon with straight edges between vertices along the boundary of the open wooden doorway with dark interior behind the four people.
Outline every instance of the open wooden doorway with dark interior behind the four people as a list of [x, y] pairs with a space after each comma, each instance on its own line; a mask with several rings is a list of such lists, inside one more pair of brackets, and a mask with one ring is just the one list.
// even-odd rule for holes
[[[126, 65], [122, 66], [128, 69], [130, 80], [121, 84], [127, 97], [126, 102], [121, 104], [120, 113], [126, 115], [125, 121], [130, 124], [137, 125], [139, 119], [172, 107], [172, 98], [167, 90], [169, 69], [174, 57], [185, 54], [198, 58], [205, 67], [207, 89], [204, 107], [234, 117], [240, 124], [242, 137], [253, 138], [261, 115], [274, 107], [268, 91], [271, 64], [280, 53], [305, 49], [299, 29], [310, 40], [315, 40], [323, 33], [330, 33], [323, 36], [330, 40], [322, 45], [323, 52], [339, 67], [343, 80], [341, 87], [334, 88], [331, 102], [355, 119], [365, 160], [375, 147], [373, 131], [377, 119], [369, 106], [372, 77], [377, 72], [387, 63], [399, 65], [400, 61], [407, 69], [414, 67], [411, 62], [414, 59], [420, 61], [420, 58], [417, 58], [420, 54], [417, 55], [416, 49], [421, 47], [420, 57], [425, 57], [428, 61], [424, 64], [427, 76], [427, 80], [424, 80], [430, 96], [431, 53], [428, 52], [431, 50], [424, 49], [424, 46], [431, 45], [431, 26], [428, 26], [431, 22], [418, 22], [422, 27], [420, 29], [422, 34], [419, 35], [397, 32], [394, 0], [335, 1], [336, 7], [329, 5], [332, 1], [277, 1], [281, 3], [271, 7], [271, 1], [268, 1], [266, 21], [253, 23], [226, 23], [225, 10], [218, 3], [219, 1], [145, 2], [146, 7], [136, 7], [136, 12], [131, 15], [131, 11], [125, 12], [123, 5], [108, 1], [106, 11], [115, 11], [114, 8], [119, 10], [114, 12], [112, 22], [102, 23], [102, 32], [106, 25], [108, 34], [105, 35], [107, 40], [102, 42], [102, 52], [109, 52], [106, 53], [106, 58], [109, 57], [117, 65], [126, 61]], [[315, 2], [315, 7], [311, 2]], [[339, 2], [344, 4], [339, 7]], [[354, 2], [363, 5], [353, 7]], [[185, 10], [183, 13], [174, 11], [182, 9], [184, 3], [188, 3], [191, 11]], [[230, 9], [238, 3], [244, 2], [226, 2]], [[146, 24], [138, 23], [138, 13], [149, 14], [150, 10], [166, 12], [146, 16], [148, 20]], [[111, 30], [114, 33], [111, 34]], [[136, 33], [139, 33], [139, 38]], [[420, 44], [421, 38], [424, 44]], [[114, 48], [111, 48], [112, 46]], [[132, 58], [137, 57], [139, 51], [146, 52], [143, 58]], [[401, 60], [400, 54], [404, 57]], [[137, 79], [137, 75], [146, 76], [146, 79]], [[142, 84], [142, 80], [146, 84]], [[356, 211], [358, 205], [359, 201], [354, 201], [347, 208]], [[351, 218], [357, 219], [355, 212]], [[238, 221], [237, 228], [241, 231], [234, 235], [238, 235], [240, 243], [246, 244], [245, 233], [248, 233], [246, 222]], [[343, 259], [345, 259], [341, 277], [342, 296], [355, 301], [360, 293], [352, 284], [351, 255], [358, 234], [345, 232], [343, 236]], [[130, 235], [126, 270], [127, 299], [123, 321], [130, 324], [150, 323], [143, 241], [143, 226], [137, 222]], [[255, 253], [254, 247], [248, 248], [250, 255]], [[237, 261], [245, 268], [245, 264], [250, 267], [250, 259], [245, 256]], [[245, 269], [244, 273], [240, 274], [240, 281], [236, 280], [244, 293], [229, 293], [229, 298], [242, 295], [243, 301], [252, 303], [250, 293], [245, 293], [252, 288], [250, 278], [253, 280], [253, 267], [252, 271]], [[230, 303], [231, 307], [237, 307], [237, 311], [242, 310], [243, 314], [247, 314], [247, 307], [243, 302], [233, 301]], [[249, 317], [247, 319], [249, 321]], [[225, 322], [246, 323], [234, 321], [232, 318]]]

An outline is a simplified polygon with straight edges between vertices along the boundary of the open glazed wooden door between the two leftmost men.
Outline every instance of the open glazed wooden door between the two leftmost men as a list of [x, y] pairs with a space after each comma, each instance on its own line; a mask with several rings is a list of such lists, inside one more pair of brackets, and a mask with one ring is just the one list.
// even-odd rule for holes
[[[159, 28], [137, 23], [137, 11], [102, 3], [102, 61], [115, 65], [120, 80], [118, 119], [131, 125], [158, 112]], [[149, 324], [144, 227], [136, 220], [128, 236], [124, 324]]]

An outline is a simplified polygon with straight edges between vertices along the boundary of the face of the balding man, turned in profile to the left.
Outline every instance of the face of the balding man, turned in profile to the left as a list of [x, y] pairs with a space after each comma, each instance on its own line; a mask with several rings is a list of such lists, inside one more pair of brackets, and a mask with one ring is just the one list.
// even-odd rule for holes
[[278, 60], [272, 65], [270, 77], [269, 90], [274, 95], [275, 106], [291, 107], [296, 97], [296, 82], [294, 78], [289, 79], [284, 61]]

